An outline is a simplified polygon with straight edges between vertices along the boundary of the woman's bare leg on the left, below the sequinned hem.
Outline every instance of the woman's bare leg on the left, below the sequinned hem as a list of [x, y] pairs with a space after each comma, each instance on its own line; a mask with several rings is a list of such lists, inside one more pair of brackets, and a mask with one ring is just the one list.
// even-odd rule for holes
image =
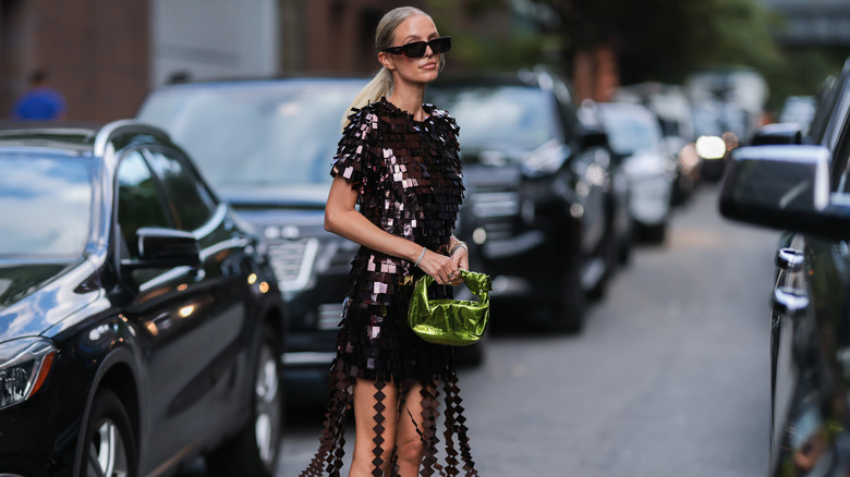
[[392, 382], [354, 383], [354, 457], [349, 477], [381, 477], [396, 445], [398, 392]]

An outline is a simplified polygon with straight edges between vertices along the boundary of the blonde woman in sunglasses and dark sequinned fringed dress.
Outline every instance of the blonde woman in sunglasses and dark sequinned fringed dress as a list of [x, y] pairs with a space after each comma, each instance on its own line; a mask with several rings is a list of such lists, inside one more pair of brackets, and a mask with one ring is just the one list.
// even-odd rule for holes
[[[345, 411], [353, 407], [349, 476], [410, 477], [458, 466], [477, 475], [461, 417], [453, 352], [422, 341], [406, 325], [414, 280], [427, 273], [447, 297], [467, 268], [466, 244], [451, 235], [463, 198], [458, 126], [424, 105], [448, 37], [430, 16], [398, 8], [378, 24], [381, 71], [357, 95], [331, 169], [325, 228], [361, 244], [352, 262], [331, 368], [319, 450], [303, 477], [338, 476]], [[356, 205], [360, 208], [355, 208]], [[437, 402], [445, 397], [445, 464], [437, 462]], [[460, 455], [459, 455], [460, 454]], [[459, 458], [461, 462], [459, 462]]]

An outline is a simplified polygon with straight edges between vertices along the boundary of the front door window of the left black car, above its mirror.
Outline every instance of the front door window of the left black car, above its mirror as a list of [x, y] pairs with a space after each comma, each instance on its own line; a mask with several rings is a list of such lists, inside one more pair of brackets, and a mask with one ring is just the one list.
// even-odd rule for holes
[[126, 154], [118, 167], [118, 222], [132, 257], [138, 257], [136, 230], [169, 227], [167, 217], [142, 152], [134, 150]]

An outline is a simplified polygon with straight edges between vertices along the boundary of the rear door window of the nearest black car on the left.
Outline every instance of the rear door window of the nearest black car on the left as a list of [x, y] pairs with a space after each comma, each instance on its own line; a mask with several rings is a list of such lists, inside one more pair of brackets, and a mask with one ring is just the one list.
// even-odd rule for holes
[[216, 210], [212, 195], [204, 184], [183, 166], [173, 151], [150, 150], [150, 166], [173, 201], [177, 228], [195, 230], [205, 224]]

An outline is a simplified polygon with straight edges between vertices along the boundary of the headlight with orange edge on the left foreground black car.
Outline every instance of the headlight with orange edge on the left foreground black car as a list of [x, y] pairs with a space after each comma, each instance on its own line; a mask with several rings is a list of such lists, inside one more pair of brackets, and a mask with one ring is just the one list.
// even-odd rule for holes
[[41, 388], [56, 352], [42, 338], [0, 343], [0, 409], [26, 401]]

